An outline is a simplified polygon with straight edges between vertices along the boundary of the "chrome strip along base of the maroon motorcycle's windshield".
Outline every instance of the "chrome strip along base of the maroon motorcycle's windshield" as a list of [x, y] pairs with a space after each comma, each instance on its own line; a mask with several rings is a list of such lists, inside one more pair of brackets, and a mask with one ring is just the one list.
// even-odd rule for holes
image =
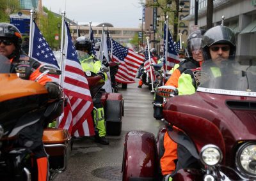
[[224, 94], [230, 96], [246, 96], [246, 97], [256, 97], [256, 92], [246, 92], [246, 91], [233, 91], [225, 89], [210, 89], [204, 87], [198, 87], [197, 92], [207, 92], [211, 94]]

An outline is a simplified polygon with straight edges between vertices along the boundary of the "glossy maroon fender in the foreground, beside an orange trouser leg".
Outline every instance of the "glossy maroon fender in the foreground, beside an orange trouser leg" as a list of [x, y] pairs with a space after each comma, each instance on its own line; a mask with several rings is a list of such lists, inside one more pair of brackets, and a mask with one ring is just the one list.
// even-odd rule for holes
[[145, 131], [130, 131], [125, 136], [123, 181], [157, 180], [159, 159], [156, 138]]

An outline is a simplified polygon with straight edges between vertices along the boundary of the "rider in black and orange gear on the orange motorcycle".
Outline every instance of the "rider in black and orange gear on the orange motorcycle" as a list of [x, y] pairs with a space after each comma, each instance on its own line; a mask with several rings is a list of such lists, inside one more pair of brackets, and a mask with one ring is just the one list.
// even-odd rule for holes
[[[0, 23], [0, 55], [10, 59], [11, 73], [26, 80], [35, 80], [41, 75], [40, 62], [25, 55], [21, 49], [22, 36], [19, 29], [12, 24]], [[51, 82], [46, 75], [38, 80], [49, 92], [49, 98], [55, 99], [61, 95], [58, 84]], [[31, 126], [27, 126], [19, 133], [18, 146], [28, 147], [36, 158], [38, 180], [47, 180], [47, 154], [44, 150], [42, 136], [44, 131], [44, 120], [40, 120]]]

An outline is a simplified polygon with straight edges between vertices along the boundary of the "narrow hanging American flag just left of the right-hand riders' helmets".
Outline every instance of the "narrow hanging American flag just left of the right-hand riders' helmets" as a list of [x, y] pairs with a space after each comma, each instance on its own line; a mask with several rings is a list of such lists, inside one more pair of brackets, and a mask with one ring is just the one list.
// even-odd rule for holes
[[166, 61], [166, 55], [165, 55], [165, 51], [166, 51], [166, 47], [165, 47], [165, 42], [166, 41], [166, 24], [164, 24], [164, 69], [166, 68], [166, 70], [170, 70], [173, 68], [173, 66], [177, 63], [179, 63], [179, 57], [178, 54], [175, 50], [175, 45], [174, 42], [172, 40], [172, 35], [168, 29], [168, 46], [167, 46], [167, 61]]

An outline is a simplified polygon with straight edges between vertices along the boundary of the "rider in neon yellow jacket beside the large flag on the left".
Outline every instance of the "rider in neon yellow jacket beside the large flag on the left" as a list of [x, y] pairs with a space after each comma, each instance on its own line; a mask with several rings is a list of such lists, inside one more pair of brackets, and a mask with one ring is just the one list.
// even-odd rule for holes
[[[108, 79], [108, 75], [106, 73], [100, 72], [100, 68], [102, 67], [101, 62], [99, 59], [96, 59], [96, 57], [92, 54], [92, 43], [91, 41], [84, 37], [80, 36], [76, 40], [76, 50], [80, 50], [83, 55], [79, 55], [79, 61], [81, 62], [81, 66], [83, 68], [83, 71], [91, 71], [97, 75], [102, 76], [102, 79], [106, 81]], [[78, 54], [81, 54], [81, 52]], [[102, 96], [102, 92], [97, 92], [95, 97], [93, 98], [93, 106], [97, 108], [98, 112], [98, 123], [97, 123], [97, 131], [95, 131], [95, 141], [103, 144], [108, 145], [109, 141], [106, 139], [106, 127], [104, 124], [104, 108], [100, 101]], [[96, 111], [93, 110], [93, 117], [96, 124]]]

